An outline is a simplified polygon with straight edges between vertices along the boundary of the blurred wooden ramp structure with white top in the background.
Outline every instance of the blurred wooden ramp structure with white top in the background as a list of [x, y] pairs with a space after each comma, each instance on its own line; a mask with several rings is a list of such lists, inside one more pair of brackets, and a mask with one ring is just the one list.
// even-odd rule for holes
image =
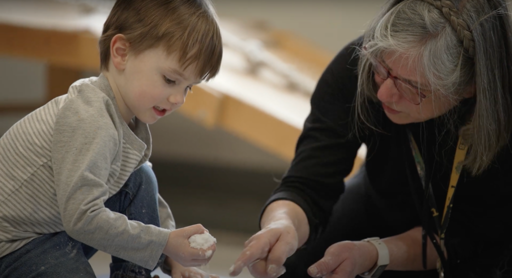
[[[100, 5], [101, 6], [101, 5]], [[46, 62], [46, 101], [68, 91], [84, 71], [99, 74], [98, 38], [109, 9], [64, 1], [0, 2], [0, 55]], [[221, 128], [291, 161], [316, 80], [332, 58], [309, 41], [263, 24], [221, 19], [220, 73], [194, 87], [179, 113]], [[0, 113], [44, 103], [0, 103]], [[354, 169], [366, 155], [359, 149]]]

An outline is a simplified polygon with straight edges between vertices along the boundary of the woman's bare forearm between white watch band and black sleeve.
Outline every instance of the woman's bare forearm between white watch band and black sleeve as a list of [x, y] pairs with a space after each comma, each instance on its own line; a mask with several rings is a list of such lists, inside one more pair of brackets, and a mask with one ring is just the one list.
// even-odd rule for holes
[[[421, 227], [416, 227], [397, 236], [382, 239], [388, 247], [390, 256], [387, 270], [424, 270], [421, 232]], [[439, 256], [430, 239], [427, 243], [426, 256], [427, 269], [435, 269]]]

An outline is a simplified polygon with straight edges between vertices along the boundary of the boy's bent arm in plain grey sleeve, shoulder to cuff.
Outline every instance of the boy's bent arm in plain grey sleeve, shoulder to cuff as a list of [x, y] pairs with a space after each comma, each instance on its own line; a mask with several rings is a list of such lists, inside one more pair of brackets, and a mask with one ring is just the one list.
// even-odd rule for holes
[[60, 217], [70, 237], [152, 269], [170, 231], [104, 207], [111, 163], [122, 143], [113, 105], [101, 92], [86, 92], [70, 98], [56, 116], [51, 152]]

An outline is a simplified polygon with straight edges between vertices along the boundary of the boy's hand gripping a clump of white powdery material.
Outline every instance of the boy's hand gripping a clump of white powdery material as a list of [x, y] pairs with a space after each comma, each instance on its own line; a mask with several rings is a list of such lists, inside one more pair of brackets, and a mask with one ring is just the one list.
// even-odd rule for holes
[[194, 234], [208, 232], [201, 224], [184, 227], [169, 233], [169, 239], [163, 249], [173, 261], [182, 266], [202, 266], [208, 264], [211, 256], [215, 253], [215, 244], [208, 249], [195, 249], [190, 247], [188, 239]]

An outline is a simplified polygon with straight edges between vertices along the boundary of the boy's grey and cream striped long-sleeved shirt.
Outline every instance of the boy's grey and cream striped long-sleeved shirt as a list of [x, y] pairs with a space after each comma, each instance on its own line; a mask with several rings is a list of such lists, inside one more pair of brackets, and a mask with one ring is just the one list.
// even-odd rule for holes
[[129, 128], [104, 75], [73, 83], [0, 138], [0, 257], [66, 231], [153, 269], [175, 228], [165, 201], [159, 196], [162, 228], [104, 207], [150, 155], [147, 124]]

